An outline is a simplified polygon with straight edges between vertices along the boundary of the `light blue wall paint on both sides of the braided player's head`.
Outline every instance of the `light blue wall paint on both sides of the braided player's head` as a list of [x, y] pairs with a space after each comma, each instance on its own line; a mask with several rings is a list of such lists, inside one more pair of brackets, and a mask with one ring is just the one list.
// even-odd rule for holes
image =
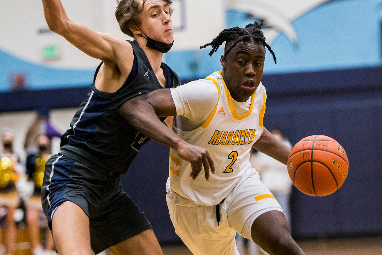
[[[293, 22], [298, 45], [292, 45], [284, 34], [270, 44], [278, 63], [274, 64], [267, 51], [264, 74], [382, 65], [381, 6], [381, 0], [337, 0], [309, 11]], [[227, 28], [253, 21], [245, 13], [227, 11]], [[211, 41], [216, 36], [211, 35]], [[185, 78], [204, 77], [221, 69], [222, 49], [212, 58], [207, 55], [209, 50], [198, 51], [168, 53], [167, 63]], [[191, 70], [194, 63], [199, 65]]]

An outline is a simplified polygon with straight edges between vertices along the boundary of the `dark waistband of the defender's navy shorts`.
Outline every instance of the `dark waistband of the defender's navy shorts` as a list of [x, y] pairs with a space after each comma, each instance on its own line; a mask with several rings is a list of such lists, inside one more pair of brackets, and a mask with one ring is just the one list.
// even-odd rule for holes
[[84, 164], [85, 166], [94, 169], [94, 171], [99, 172], [100, 174], [109, 174], [110, 172], [115, 172], [115, 170], [112, 169], [110, 166], [95, 158], [90, 153], [81, 148], [77, 148], [71, 145], [64, 145], [61, 147], [61, 151], [59, 152], [59, 154], [74, 159], [75, 161], [78, 161]]

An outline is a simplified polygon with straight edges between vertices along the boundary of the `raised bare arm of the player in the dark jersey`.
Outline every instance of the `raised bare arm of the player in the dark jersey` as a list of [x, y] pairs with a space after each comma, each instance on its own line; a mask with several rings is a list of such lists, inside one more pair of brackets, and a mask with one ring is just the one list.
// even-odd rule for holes
[[118, 55], [122, 53], [121, 50], [128, 50], [133, 54], [131, 45], [117, 35], [95, 32], [84, 24], [68, 18], [60, 0], [42, 0], [42, 4], [49, 28], [87, 55], [118, 65]]

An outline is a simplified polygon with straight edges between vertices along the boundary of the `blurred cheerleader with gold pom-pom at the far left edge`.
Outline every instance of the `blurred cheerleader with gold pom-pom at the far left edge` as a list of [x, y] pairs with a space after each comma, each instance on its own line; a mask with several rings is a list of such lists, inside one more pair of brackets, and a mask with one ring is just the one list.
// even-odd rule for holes
[[[9, 128], [3, 128], [0, 151], [0, 208], [6, 208], [6, 231], [5, 252], [4, 247], [0, 254], [13, 254], [13, 243], [16, 236], [16, 225], [13, 213], [19, 204], [19, 196], [16, 191], [16, 182], [23, 177], [24, 167], [19, 162], [19, 157], [13, 152], [13, 140], [15, 132]], [[0, 230], [0, 240], [1, 238]]]

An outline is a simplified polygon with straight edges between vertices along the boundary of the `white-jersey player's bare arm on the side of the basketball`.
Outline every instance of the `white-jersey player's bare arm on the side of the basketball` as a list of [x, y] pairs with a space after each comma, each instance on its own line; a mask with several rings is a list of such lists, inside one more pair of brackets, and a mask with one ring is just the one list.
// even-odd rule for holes
[[265, 127], [260, 138], [256, 141], [256, 143], [254, 143], [252, 147], [276, 159], [277, 161], [282, 162], [285, 165], [288, 162], [288, 156], [291, 151], [291, 148], [289, 148], [286, 145], [283, 145]]

